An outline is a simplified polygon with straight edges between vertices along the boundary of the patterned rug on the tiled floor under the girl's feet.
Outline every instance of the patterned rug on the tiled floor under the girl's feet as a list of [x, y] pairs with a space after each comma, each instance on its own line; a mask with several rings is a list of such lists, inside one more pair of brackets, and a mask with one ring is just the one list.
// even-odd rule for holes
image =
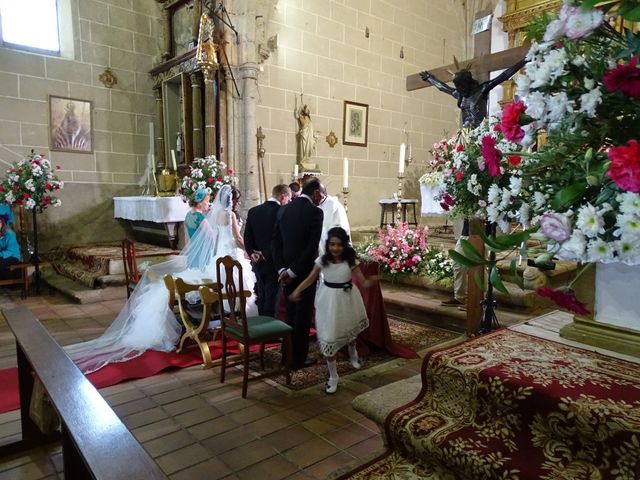
[[[415, 351], [439, 345], [459, 336], [459, 334], [447, 330], [402, 322], [393, 318], [389, 318], [389, 329], [391, 330], [391, 336], [394, 342], [405, 345]], [[309, 342], [309, 358], [317, 358], [318, 363], [309, 368], [292, 372], [290, 385], [286, 385], [284, 376], [274, 377], [273, 380], [291, 390], [303, 390], [312, 385], [324, 384], [328, 378], [327, 364], [315, 340], [310, 340]], [[362, 364], [360, 370], [371, 368], [374, 365], [380, 365], [395, 358], [397, 357], [385, 351], [371, 351], [367, 356], [363, 356], [360, 359], [360, 363]], [[265, 367], [267, 369], [274, 368], [280, 361], [281, 356], [279, 349], [267, 350], [265, 352]], [[353, 368], [351, 362], [349, 362], [346, 348], [343, 348], [338, 353], [337, 363], [338, 374], [341, 377], [359, 371]], [[259, 361], [257, 359], [252, 360], [251, 367], [258, 369]]]

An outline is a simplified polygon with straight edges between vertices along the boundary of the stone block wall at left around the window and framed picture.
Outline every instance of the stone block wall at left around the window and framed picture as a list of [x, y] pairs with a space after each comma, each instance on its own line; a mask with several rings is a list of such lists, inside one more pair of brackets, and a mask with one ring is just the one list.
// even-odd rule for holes
[[[50, 153], [65, 181], [63, 205], [39, 216], [44, 247], [117, 240], [112, 196], [139, 191], [155, 100], [148, 71], [158, 55], [154, 0], [62, 0], [72, 41], [60, 56], [0, 47], [0, 171], [32, 148]], [[117, 77], [109, 89], [98, 79]], [[48, 95], [93, 102], [93, 153], [49, 152]]]

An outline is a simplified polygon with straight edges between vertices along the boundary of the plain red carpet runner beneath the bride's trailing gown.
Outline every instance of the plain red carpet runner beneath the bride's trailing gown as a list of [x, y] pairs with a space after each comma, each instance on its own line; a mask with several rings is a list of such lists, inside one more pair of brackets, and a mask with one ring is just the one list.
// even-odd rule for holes
[[[220, 358], [222, 350], [217, 342], [215, 345], [211, 345], [210, 349], [212, 359]], [[232, 345], [227, 347], [227, 351], [231, 354], [238, 353], [238, 349]], [[128, 362], [109, 364], [97, 372], [87, 375], [87, 378], [96, 388], [104, 388], [125, 380], [151, 377], [167, 368], [187, 368], [201, 363], [200, 349], [195, 345], [189, 346], [183, 353], [147, 350]], [[0, 370], [0, 413], [18, 408], [20, 408], [18, 369]]]

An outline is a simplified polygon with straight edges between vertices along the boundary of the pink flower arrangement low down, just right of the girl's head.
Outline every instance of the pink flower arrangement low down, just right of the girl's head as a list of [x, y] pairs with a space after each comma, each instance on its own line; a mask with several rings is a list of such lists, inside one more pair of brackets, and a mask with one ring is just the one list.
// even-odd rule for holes
[[427, 248], [428, 233], [429, 227], [411, 229], [405, 222], [397, 228], [387, 225], [386, 229], [378, 231], [379, 243], [370, 246], [367, 253], [385, 273], [418, 273]]

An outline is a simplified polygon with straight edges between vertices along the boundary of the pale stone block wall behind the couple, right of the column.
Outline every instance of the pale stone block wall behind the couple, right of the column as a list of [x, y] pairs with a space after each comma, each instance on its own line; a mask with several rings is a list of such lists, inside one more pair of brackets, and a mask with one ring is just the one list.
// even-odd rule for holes
[[[291, 181], [294, 102], [302, 92], [317, 136], [313, 160], [329, 193], [341, 192], [342, 159], [349, 158], [352, 225], [377, 224], [378, 199], [397, 190], [403, 129], [414, 157], [404, 188], [406, 196], [419, 198], [422, 163], [437, 139], [457, 129], [458, 110], [451, 97], [435, 88], [407, 92], [405, 80], [452, 63], [454, 55], [466, 58], [461, 5], [441, 0], [278, 1], [266, 24], [266, 37], [277, 34], [278, 45], [263, 64], [257, 110], [257, 125], [266, 135], [268, 188]], [[342, 145], [344, 100], [369, 105], [367, 147]], [[325, 141], [330, 131], [339, 138], [335, 148]]]

